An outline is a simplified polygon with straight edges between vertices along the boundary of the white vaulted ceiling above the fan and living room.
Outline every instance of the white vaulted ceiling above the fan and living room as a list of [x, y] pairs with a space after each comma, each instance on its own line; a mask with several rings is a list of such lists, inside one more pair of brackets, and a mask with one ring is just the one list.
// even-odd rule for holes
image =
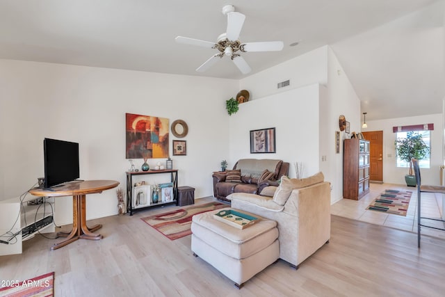
[[[241, 74], [216, 49], [223, 6], [246, 18], [242, 42], [282, 40], [282, 51], [242, 53]], [[242, 79], [330, 45], [367, 120], [440, 113], [445, 98], [445, 0], [2, 0], [0, 58]], [[298, 45], [291, 44], [298, 42]]]

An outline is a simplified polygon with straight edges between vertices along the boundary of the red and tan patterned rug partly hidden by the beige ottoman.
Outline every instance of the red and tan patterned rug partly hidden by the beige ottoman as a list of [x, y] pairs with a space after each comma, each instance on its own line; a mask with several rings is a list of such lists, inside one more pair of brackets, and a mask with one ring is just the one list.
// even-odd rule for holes
[[170, 240], [175, 240], [192, 234], [190, 227], [193, 215], [224, 207], [229, 207], [229, 205], [220, 202], [210, 202], [147, 216], [146, 218], [141, 218], [141, 220], [154, 227], [154, 229], [167, 236]]

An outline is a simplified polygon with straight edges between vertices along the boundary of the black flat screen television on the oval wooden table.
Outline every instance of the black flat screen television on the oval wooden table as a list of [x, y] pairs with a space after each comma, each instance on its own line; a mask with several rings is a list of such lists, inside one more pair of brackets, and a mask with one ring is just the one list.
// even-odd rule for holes
[[79, 178], [79, 143], [44, 138], [44, 187]]

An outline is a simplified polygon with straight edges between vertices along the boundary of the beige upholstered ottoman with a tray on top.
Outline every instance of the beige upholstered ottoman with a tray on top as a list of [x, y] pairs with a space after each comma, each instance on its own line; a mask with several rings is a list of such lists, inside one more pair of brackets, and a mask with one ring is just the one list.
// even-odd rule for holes
[[213, 214], [227, 209], [230, 208], [193, 216], [191, 248], [195, 256], [211, 264], [241, 288], [244, 282], [280, 257], [277, 222], [260, 218], [257, 223], [241, 230], [213, 218]]

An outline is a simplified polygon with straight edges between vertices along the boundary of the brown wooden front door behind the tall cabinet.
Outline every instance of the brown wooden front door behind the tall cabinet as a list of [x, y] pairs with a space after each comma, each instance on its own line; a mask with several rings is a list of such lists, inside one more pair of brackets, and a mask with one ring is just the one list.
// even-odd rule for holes
[[383, 131], [362, 132], [369, 141], [369, 179], [383, 182]]

